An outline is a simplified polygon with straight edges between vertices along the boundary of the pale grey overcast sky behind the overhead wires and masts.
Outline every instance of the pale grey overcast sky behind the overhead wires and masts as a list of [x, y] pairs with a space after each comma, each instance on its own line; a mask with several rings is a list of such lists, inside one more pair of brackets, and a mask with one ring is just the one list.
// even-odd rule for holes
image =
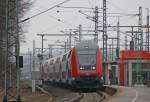
[[[34, 0], [34, 4], [30, 11], [26, 14], [26, 17], [30, 17], [43, 10], [46, 10], [64, 0]], [[63, 4], [65, 7], [89, 7], [94, 8], [98, 6], [102, 8], [102, 0], [70, 0]], [[107, 0], [107, 13], [121, 13], [121, 14], [137, 14], [138, 7], [142, 6], [143, 9], [143, 24], [146, 24], [146, 8], [150, 8], [150, 0]], [[32, 42], [36, 41], [36, 47], [41, 47], [41, 37], [36, 34], [39, 33], [60, 33], [61, 30], [77, 29], [79, 24], [82, 24], [83, 29], [94, 29], [94, 22], [86, 19], [86, 16], [79, 13], [82, 10], [89, 16], [94, 16], [93, 10], [89, 9], [65, 9], [65, 8], [54, 8], [40, 16], [37, 16], [27, 23], [26, 43], [21, 44], [21, 52], [25, 52], [30, 48], [32, 50]], [[58, 12], [59, 11], [59, 12]], [[101, 9], [99, 10], [101, 12]], [[100, 13], [99, 15], [102, 15]], [[110, 15], [110, 14], [108, 14]], [[112, 15], [111, 15], [112, 16]], [[120, 15], [113, 15], [120, 16]], [[60, 19], [60, 21], [58, 21]], [[108, 24], [116, 25], [118, 17], [108, 17]], [[138, 17], [135, 16], [121, 16], [121, 25], [137, 25]], [[99, 18], [102, 22], [102, 18]], [[124, 29], [121, 29], [124, 30]], [[88, 32], [85, 32], [88, 33]], [[108, 35], [116, 36], [116, 32], [108, 32]], [[48, 47], [48, 44], [55, 43], [56, 40], [65, 41], [65, 37], [45, 37], [44, 47]], [[102, 38], [102, 34], [99, 34], [99, 39]], [[121, 35], [124, 38], [124, 35]], [[87, 39], [84, 37], [84, 39]], [[122, 40], [122, 44], [124, 41]], [[102, 47], [102, 43], [99, 42], [99, 46]]]

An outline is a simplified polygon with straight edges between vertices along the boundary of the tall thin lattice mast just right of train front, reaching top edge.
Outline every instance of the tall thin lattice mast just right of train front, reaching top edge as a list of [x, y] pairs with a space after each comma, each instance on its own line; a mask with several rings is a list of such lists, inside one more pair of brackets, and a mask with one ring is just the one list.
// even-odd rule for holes
[[103, 0], [103, 61], [107, 61], [107, 16], [106, 16], [106, 0]]

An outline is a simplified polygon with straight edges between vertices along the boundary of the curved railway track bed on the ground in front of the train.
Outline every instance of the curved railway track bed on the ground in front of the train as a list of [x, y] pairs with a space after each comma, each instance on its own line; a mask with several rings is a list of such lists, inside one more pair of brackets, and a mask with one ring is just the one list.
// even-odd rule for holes
[[105, 95], [102, 91], [73, 91], [60, 87], [45, 86], [47, 92], [52, 94], [52, 102], [102, 102]]

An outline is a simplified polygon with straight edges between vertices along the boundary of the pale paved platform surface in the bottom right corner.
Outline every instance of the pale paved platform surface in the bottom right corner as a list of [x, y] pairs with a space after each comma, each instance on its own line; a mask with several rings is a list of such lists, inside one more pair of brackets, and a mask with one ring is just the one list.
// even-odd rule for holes
[[106, 102], [150, 102], [150, 88], [119, 87], [119, 92]]

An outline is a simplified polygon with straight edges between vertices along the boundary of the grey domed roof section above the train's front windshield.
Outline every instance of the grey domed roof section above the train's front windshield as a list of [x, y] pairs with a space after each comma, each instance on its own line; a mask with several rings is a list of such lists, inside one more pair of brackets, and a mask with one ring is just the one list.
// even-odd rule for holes
[[89, 48], [89, 49], [95, 49], [98, 48], [98, 44], [94, 42], [93, 40], [85, 40], [78, 43], [75, 48], [77, 49], [83, 49], [83, 48]]

